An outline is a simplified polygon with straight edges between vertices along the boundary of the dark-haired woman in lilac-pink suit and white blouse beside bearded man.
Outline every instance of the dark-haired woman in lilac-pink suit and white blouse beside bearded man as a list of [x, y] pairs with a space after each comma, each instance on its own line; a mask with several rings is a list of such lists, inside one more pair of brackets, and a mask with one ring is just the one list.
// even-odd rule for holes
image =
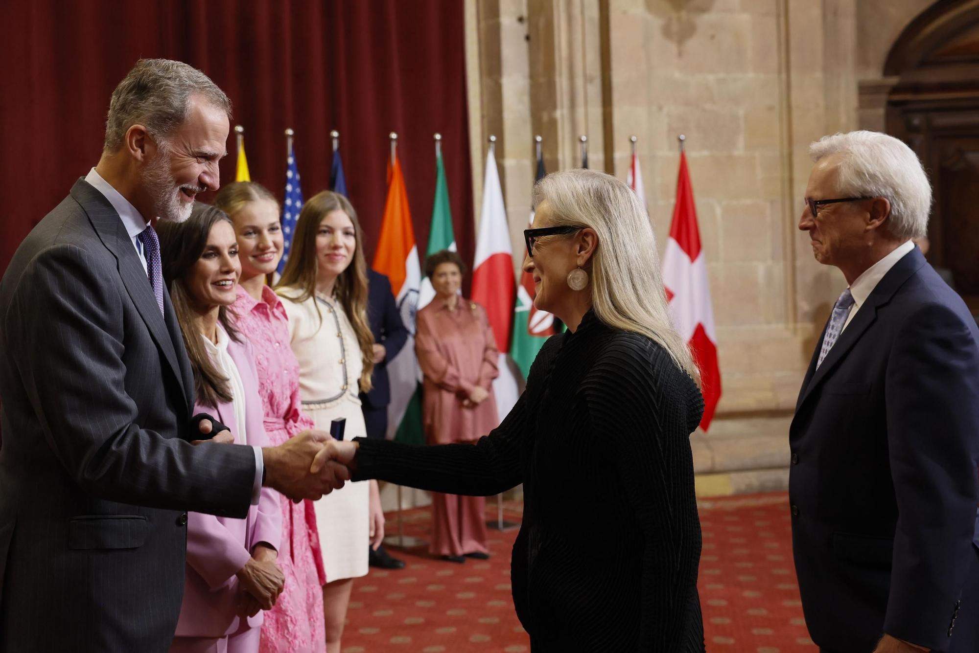
[[[228, 310], [241, 274], [231, 221], [200, 204], [186, 222], [159, 230], [163, 279], [194, 375], [195, 413], [213, 414], [236, 444], [267, 447], [252, 346]], [[183, 603], [170, 653], [257, 653], [262, 610], [275, 604], [284, 578], [276, 565], [279, 493], [255, 492], [245, 519], [185, 515]]]

